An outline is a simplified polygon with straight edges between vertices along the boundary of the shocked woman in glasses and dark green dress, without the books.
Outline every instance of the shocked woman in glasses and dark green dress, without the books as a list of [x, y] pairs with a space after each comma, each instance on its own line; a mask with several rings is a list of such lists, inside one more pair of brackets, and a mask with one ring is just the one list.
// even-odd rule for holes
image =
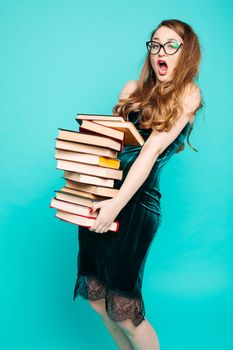
[[[161, 223], [159, 176], [184, 148], [195, 113], [203, 105], [198, 77], [200, 45], [192, 27], [162, 21], [146, 43], [139, 81], [128, 81], [113, 113], [132, 121], [145, 139], [118, 154], [123, 179], [114, 198], [93, 204], [92, 227], [79, 227], [74, 299], [90, 301], [119, 349], [158, 350], [158, 336], [145, 319], [141, 294], [149, 248]], [[118, 233], [108, 231], [114, 220]], [[93, 232], [89, 232], [93, 231]]]

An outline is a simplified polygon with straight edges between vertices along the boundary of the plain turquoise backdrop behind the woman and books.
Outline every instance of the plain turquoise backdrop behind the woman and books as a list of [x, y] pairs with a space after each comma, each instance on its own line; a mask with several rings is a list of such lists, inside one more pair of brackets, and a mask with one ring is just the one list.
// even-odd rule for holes
[[111, 114], [138, 79], [163, 19], [202, 45], [205, 107], [161, 178], [163, 223], [143, 285], [162, 350], [233, 348], [231, 1], [1, 1], [0, 346], [117, 349], [99, 316], [73, 302], [77, 227], [54, 217], [58, 128]]

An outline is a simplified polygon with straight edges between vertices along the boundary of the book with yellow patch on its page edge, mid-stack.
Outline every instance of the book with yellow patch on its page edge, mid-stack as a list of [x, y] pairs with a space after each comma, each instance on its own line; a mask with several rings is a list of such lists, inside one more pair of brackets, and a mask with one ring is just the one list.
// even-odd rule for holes
[[73, 152], [73, 151], [67, 151], [67, 150], [62, 150], [58, 148], [55, 149], [55, 158], [70, 160], [73, 162], [94, 164], [94, 165], [111, 168], [111, 169], [120, 168], [120, 159], [100, 157], [95, 154]]

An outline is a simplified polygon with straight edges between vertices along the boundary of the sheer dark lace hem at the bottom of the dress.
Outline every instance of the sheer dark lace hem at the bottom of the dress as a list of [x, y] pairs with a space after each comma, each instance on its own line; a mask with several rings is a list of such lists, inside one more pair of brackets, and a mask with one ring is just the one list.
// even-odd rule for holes
[[138, 326], [145, 320], [145, 305], [142, 296], [129, 297], [122, 291], [106, 288], [105, 283], [94, 276], [78, 276], [73, 300], [78, 295], [87, 300], [105, 298], [106, 312], [113, 322], [131, 319], [133, 324]]

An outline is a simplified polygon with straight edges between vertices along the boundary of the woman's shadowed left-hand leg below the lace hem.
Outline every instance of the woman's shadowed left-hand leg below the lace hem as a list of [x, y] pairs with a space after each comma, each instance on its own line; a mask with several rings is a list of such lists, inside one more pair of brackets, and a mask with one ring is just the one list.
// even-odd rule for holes
[[101, 298], [95, 301], [90, 300], [90, 305], [100, 315], [107, 330], [119, 346], [119, 350], [133, 350], [134, 348], [125, 332], [107, 315], [105, 310], [105, 299]]

